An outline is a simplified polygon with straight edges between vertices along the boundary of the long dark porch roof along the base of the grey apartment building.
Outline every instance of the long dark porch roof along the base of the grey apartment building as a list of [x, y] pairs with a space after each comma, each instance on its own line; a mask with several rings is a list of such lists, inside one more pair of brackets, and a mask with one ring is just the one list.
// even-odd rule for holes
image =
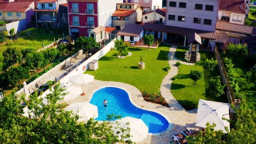
[[212, 31], [166, 26], [166, 25], [156, 24], [156, 23], [145, 23], [144, 29], [161, 31], [161, 32], [171, 33], [171, 34], [187, 35], [187, 36], [194, 35], [194, 33], [196, 33], [202, 38], [216, 39], [215, 32], [212, 32]]

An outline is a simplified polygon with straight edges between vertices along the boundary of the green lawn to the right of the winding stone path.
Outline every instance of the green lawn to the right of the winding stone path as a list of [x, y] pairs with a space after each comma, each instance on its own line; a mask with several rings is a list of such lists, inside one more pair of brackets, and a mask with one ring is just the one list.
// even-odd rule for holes
[[[182, 47], [177, 48], [177, 51], [182, 50]], [[203, 68], [203, 61], [206, 58], [213, 58], [214, 54], [212, 52], [200, 51], [200, 56], [201, 61], [197, 62], [194, 66], [181, 65], [178, 75], [175, 76], [176, 79], [172, 82], [171, 92], [174, 98], [187, 110], [196, 108], [198, 99], [209, 100], [206, 93], [207, 87], [209, 87], [209, 78], [219, 75], [217, 67], [212, 73]], [[189, 77], [191, 70], [198, 70], [203, 73], [203, 78], [199, 79], [195, 86], [193, 86], [193, 80]], [[222, 95], [220, 98], [211, 98], [210, 100], [227, 102], [225, 95]]]

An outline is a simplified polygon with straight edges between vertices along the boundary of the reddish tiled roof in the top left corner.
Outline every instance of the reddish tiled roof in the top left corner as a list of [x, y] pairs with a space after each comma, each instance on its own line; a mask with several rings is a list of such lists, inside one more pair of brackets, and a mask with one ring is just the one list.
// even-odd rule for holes
[[34, 3], [34, 2], [12, 2], [12, 3], [8, 3], [4, 7], [3, 11], [4, 12], [25, 12], [29, 8], [29, 5], [31, 3]]

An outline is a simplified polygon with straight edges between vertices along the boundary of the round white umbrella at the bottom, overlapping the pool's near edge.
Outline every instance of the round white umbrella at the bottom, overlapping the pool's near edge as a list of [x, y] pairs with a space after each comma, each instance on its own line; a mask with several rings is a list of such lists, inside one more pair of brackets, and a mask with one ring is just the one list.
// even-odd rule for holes
[[[148, 126], [139, 118], [126, 116], [124, 118], [116, 120], [120, 127], [129, 127], [132, 137], [130, 138], [133, 142], [145, 141], [148, 134]], [[113, 127], [114, 131], [118, 131], [118, 128]]]

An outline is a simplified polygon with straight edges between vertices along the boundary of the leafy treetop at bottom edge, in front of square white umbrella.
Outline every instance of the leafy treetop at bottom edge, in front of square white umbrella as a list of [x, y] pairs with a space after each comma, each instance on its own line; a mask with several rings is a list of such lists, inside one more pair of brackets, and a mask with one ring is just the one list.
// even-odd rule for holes
[[215, 143], [225, 143], [226, 141], [222, 141], [222, 135], [223, 131], [218, 130], [215, 131], [214, 127], [216, 127], [216, 124], [213, 123], [212, 125], [207, 122], [205, 127], [205, 132], [199, 131], [197, 134], [192, 135], [190, 137], [186, 137], [188, 139], [188, 143], [197, 144], [197, 143], [209, 143], [209, 144], [215, 144]]

